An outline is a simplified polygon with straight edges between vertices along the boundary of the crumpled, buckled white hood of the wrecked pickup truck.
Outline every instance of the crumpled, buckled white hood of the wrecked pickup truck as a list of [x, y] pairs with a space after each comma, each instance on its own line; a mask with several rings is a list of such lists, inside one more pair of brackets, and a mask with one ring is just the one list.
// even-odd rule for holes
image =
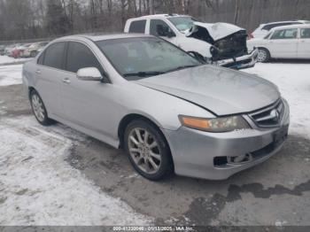
[[221, 40], [226, 36], [244, 30], [244, 28], [223, 22], [218, 23], [194, 22], [193, 27], [185, 35], [190, 37], [191, 35], [193, 35], [198, 31], [199, 27], [204, 27], [208, 31], [209, 35], [213, 38], [213, 41]]

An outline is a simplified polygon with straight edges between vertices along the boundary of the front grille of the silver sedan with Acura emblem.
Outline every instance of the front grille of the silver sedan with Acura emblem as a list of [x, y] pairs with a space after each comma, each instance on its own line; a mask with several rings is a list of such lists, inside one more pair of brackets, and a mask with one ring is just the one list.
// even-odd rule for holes
[[271, 106], [268, 106], [260, 111], [252, 112], [249, 116], [260, 128], [274, 128], [280, 125], [281, 120], [283, 119], [283, 114], [283, 100], [279, 99], [275, 102], [275, 104], [272, 104]]

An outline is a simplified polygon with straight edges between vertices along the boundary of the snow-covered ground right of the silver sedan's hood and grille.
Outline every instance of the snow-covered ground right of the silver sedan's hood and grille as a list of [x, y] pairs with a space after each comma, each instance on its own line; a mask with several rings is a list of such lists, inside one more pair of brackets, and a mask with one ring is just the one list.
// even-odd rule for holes
[[244, 72], [274, 82], [290, 104], [290, 133], [310, 137], [310, 64], [258, 63]]

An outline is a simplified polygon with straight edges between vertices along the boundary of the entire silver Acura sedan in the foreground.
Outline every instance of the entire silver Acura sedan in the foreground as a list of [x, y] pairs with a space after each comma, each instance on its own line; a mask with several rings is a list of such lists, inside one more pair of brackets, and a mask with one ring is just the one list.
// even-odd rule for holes
[[260, 77], [203, 65], [151, 35], [75, 35], [23, 67], [35, 118], [123, 148], [150, 180], [221, 180], [283, 145], [289, 105]]

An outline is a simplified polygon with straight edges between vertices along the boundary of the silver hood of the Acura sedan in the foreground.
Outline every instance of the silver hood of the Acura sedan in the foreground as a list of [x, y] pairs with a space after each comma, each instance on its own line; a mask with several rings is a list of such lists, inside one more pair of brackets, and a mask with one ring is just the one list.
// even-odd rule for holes
[[280, 97], [270, 81], [209, 65], [152, 76], [136, 83], [198, 104], [217, 116], [252, 112]]

